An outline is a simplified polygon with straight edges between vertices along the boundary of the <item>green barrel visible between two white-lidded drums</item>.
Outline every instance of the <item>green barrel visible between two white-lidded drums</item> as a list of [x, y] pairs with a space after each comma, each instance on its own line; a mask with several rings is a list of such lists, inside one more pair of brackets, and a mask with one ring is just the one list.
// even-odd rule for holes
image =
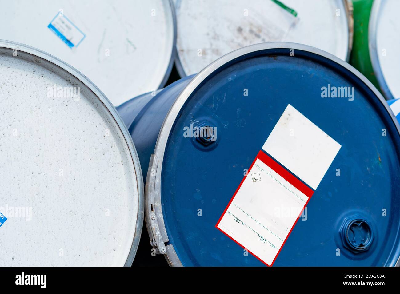
[[368, 24], [373, 2], [373, 0], [353, 0], [354, 39], [350, 64], [366, 76], [382, 92], [372, 68], [370, 51], [368, 49]]

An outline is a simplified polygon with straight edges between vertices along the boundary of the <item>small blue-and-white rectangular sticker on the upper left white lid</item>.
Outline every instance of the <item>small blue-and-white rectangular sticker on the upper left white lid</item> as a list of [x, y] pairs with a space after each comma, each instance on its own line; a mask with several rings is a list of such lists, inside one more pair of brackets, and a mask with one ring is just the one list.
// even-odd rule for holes
[[77, 47], [86, 37], [62, 12], [58, 12], [47, 27], [70, 48]]

